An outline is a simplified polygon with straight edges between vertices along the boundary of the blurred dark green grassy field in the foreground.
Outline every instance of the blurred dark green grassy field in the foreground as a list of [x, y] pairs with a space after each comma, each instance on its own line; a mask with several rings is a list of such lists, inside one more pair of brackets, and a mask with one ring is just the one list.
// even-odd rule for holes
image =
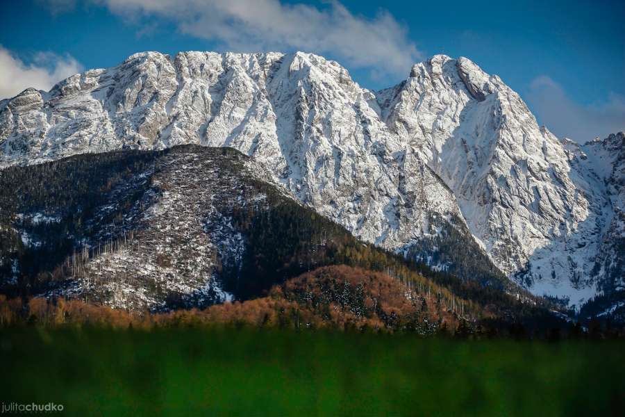
[[[625, 344], [2, 329], [3, 402], [72, 416], [610, 416]], [[622, 414], [621, 414], [622, 415]]]

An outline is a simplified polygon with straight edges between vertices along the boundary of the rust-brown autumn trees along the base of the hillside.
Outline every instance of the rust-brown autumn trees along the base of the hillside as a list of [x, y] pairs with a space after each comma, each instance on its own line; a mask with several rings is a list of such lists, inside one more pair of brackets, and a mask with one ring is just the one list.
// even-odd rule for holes
[[400, 281], [363, 268], [334, 265], [317, 268], [274, 286], [267, 297], [225, 303], [208, 309], [169, 313], [131, 313], [79, 300], [22, 302], [0, 295], [0, 325], [178, 327], [194, 325], [290, 329], [369, 329], [376, 332], [432, 334], [456, 329], [458, 318], [435, 297], [417, 294]]

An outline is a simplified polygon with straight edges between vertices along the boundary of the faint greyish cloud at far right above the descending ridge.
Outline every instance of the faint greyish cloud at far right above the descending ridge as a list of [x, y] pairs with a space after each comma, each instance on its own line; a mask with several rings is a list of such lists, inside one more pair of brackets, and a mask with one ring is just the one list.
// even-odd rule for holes
[[601, 103], [583, 106], [560, 84], [543, 75], [534, 79], [527, 97], [541, 122], [556, 136], [587, 142], [625, 131], [625, 97], [612, 93]]

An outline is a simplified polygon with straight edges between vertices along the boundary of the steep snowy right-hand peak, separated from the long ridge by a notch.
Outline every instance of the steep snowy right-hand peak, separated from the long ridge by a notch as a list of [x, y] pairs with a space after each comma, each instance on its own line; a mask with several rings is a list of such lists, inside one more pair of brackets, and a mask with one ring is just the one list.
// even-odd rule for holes
[[619, 159], [585, 156], [622, 154], [621, 133], [583, 147], [560, 141], [499, 77], [466, 58], [415, 65], [378, 100], [385, 122], [453, 190], [472, 234], [507, 275], [576, 304], [603, 290], [607, 270], [623, 275], [597, 259], [608, 247], [610, 262], [624, 256], [612, 245], [622, 231], [610, 226], [618, 206], [610, 196], [622, 193]]

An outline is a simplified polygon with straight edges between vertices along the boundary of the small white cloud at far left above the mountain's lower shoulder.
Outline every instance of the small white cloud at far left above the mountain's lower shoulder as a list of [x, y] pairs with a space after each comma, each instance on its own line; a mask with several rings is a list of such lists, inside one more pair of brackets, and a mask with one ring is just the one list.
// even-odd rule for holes
[[72, 56], [39, 52], [25, 64], [0, 45], [0, 99], [13, 97], [28, 87], [49, 90], [70, 75], [83, 70]]

